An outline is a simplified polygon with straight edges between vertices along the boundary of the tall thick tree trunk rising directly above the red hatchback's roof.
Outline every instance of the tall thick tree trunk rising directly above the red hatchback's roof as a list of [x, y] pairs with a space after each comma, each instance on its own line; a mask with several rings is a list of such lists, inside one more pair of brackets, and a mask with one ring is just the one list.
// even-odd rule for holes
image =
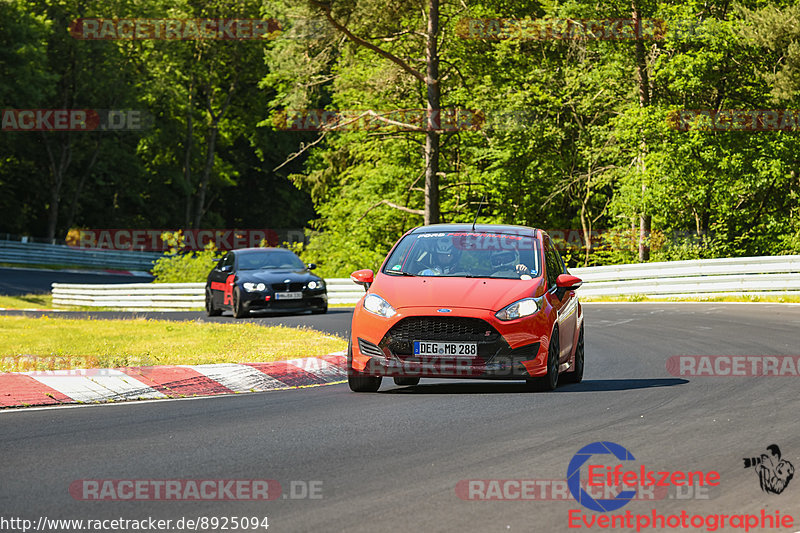
[[439, 0], [428, 2], [428, 42], [425, 49], [428, 89], [428, 131], [425, 133], [425, 224], [439, 222], [439, 133], [441, 94], [439, 87]]

